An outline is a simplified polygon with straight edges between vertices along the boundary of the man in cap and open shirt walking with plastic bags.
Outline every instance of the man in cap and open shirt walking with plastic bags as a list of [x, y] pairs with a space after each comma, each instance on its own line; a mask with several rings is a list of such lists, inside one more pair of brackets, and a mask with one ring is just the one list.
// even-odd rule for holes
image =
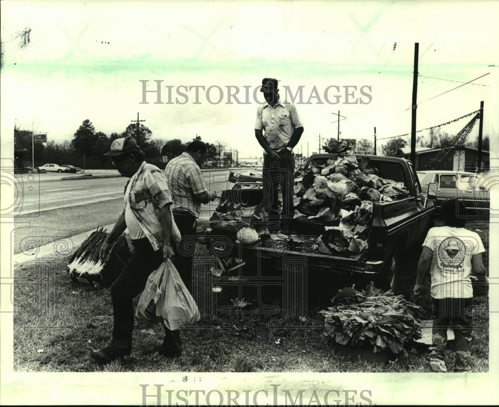
[[[100, 258], [107, 261], [111, 246], [128, 228], [134, 253], [111, 286], [113, 333], [111, 344], [90, 354], [98, 363], [130, 355], [134, 324], [133, 299], [144, 290], [149, 275], [163, 261], [173, 259], [172, 199], [163, 172], [144, 161], [144, 153], [132, 136], [116, 139], [111, 151], [104, 154], [122, 177], [130, 178], [125, 186], [124, 208], [113, 229], [100, 247]], [[179, 331], [166, 326], [163, 345], [159, 349], [167, 357], [180, 356]]]

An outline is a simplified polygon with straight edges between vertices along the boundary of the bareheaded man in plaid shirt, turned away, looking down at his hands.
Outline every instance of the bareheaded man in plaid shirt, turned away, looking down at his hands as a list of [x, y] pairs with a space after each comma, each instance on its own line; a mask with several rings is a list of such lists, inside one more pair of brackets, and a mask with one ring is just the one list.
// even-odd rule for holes
[[[165, 168], [173, 200], [173, 217], [184, 242], [196, 236], [197, 219], [201, 215], [201, 204], [208, 204], [217, 197], [208, 193], [201, 167], [208, 149], [201, 140], [187, 145], [186, 151], [172, 159]], [[192, 257], [183, 252], [182, 241], [175, 247], [176, 264], [182, 280], [189, 290], [192, 281]]]

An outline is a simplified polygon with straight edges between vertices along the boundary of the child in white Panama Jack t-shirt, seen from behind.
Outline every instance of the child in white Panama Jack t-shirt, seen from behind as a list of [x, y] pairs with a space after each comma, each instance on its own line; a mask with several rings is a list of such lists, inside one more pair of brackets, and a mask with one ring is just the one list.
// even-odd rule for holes
[[432, 227], [428, 231], [418, 263], [416, 295], [420, 293], [424, 276], [431, 266], [434, 320], [430, 366], [435, 372], [447, 372], [444, 358], [450, 326], [456, 341], [454, 371], [471, 370], [472, 318], [466, 312], [473, 299], [470, 276], [472, 272], [485, 276], [486, 270], [482, 260], [485, 252], [482, 239], [478, 233], [464, 228], [465, 211], [465, 205], [456, 199], [442, 204], [440, 214], [445, 226]]

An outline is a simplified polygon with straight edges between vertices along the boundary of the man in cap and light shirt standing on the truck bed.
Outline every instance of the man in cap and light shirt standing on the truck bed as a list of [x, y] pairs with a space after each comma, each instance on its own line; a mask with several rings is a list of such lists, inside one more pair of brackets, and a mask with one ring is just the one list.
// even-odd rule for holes
[[281, 226], [293, 219], [294, 157], [293, 148], [303, 133], [296, 107], [279, 98], [277, 79], [263, 78], [260, 92], [265, 103], [256, 109], [254, 134], [263, 148], [263, 208], [269, 219], [279, 219], [278, 186], [282, 190]]

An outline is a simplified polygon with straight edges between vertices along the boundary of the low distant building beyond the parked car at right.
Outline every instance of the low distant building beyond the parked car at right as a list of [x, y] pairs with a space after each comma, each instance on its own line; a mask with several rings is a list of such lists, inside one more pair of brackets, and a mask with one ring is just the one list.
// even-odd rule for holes
[[[416, 147], [416, 171], [421, 170], [449, 170], [449, 171], [477, 171], [478, 150], [471, 147], [456, 147], [451, 151], [442, 151], [443, 149], [429, 149], [426, 147]], [[400, 154], [394, 157], [402, 157], [410, 160], [411, 148], [404, 147], [400, 149]], [[482, 150], [482, 169], [484, 162], [488, 162], [490, 152]], [[435, 159], [435, 160], [434, 160]], [[433, 163], [430, 163], [433, 160]], [[427, 165], [432, 168], [427, 168]]]

